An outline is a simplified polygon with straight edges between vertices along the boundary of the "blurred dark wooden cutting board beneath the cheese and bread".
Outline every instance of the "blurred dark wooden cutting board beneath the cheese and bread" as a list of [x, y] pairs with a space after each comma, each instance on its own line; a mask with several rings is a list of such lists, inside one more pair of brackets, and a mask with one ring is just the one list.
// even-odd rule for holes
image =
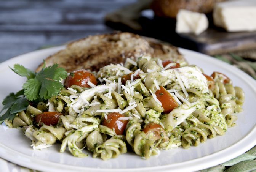
[[[177, 34], [175, 19], [154, 16], [150, 1], [141, 0], [106, 16], [106, 24], [116, 30], [134, 32], [169, 42], [174, 46], [208, 55], [256, 49], [256, 32], [226, 32], [215, 27], [208, 14], [209, 28], [200, 35]], [[146, 11], [145, 11], [146, 10]]]

